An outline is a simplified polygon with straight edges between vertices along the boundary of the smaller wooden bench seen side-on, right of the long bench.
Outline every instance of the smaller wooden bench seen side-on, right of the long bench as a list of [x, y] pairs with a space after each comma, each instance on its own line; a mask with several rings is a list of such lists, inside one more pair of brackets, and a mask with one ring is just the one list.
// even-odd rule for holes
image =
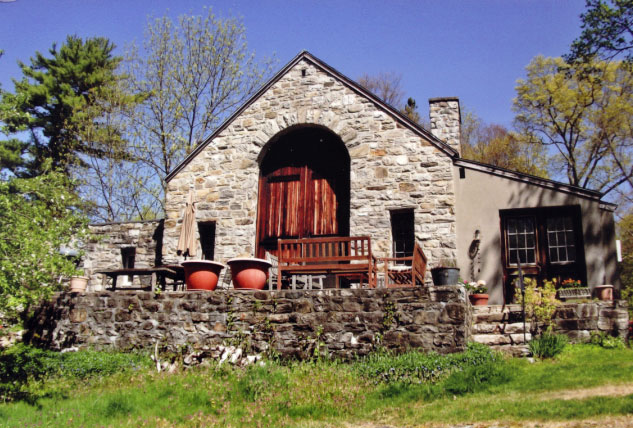
[[377, 260], [384, 263], [385, 288], [424, 285], [426, 255], [417, 242], [410, 257], [382, 257]]

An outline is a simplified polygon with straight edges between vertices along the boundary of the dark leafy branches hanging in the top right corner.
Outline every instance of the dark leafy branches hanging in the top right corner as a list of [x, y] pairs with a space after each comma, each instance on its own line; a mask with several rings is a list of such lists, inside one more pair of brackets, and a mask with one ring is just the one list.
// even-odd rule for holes
[[582, 33], [565, 59], [582, 64], [595, 57], [633, 61], [633, 0], [587, 0], [586, 6]]

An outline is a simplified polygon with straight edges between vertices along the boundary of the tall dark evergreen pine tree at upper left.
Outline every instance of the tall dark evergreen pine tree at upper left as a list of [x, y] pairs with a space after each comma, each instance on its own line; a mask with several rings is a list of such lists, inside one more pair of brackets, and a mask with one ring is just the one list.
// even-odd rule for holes
[[[0, 114], [5, 134], [28, 133], [29, 141], [13, 138], [2, 142], [2, 166], [18, 175], [42, 172], [46, 159], [53, 168], [68, 172], [81, 165], [81, 154], [103, 156], [104, 144], [80, 138], [78, 123], [84, 121], [103, 87], [116, 80], [120, 59], [112, 56], [114, 45], [96, 37], [85, 41], [69, 36], [50, 58], [37, 52], [31, 65], [20, 63], [24, 77], [14, 80], [14, 93], [3, 92]], [[95, 124], [98, 123], [95, 119]]]

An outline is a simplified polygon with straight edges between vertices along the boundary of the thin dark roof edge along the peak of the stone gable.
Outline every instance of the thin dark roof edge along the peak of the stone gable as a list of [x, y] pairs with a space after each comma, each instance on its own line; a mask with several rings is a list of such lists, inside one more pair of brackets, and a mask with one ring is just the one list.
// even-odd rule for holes
[[251, 104], [257, 101], [271, 86], [273, 86], [279, 79], [281, 79], [288, 71], [290, 71], [294, 66], [296, 66], [301, 61], [307, 61], [310, 64], [314, 65], [321, 71], [329, 74], [330, 76], [337, 79], [347, 88], [356, 92], [357, 94], [371, 100], [374, 104], [376, 104], [379, 108], [388, 112], [393, 118], [398, 121], [404, 127], [410, 129], [415, 134], [425, 138], [435, 147], [437, 147], [440, 151], [442, 151], [447, 156], [452, 158], [459, 157], [459, 153], [457, 150], [450, 147], [444, 141], [440, 140], [436, 136], [434, 136], [430, 131], [424, 129], [417, 123], [413, 122], [411, 119], [400, 113], [396, 108], [387, 104], [380, 98], [378, 98], [375, 94], [371, 93], [366, 88], [362, 87], [349, 77], [345, 76], [343, 73], [339, 72], [335, 68], [321, 61], [319, 58], [315, 57], [308, 51], [302, 51], [297, 56], [295, 56], [288, 64], [286, 64], [281, 70], [277, 72], [264, 86], [262, 86], [252, 97], [250, 97], [240, 108], [238, 108], [231, 116], [229, 116], [222, 124], [207, 137], [202, 143], [198, 144], [193, 151], [187, 156], [178, 166], [176, 166], [166, 177], [165, 181], [169, 182], [172, 178], [174, 178], [193, 158], [195, 158], [198, 153], [204, 150], [222, 131], [224, 131], [236, 118], [238, 118], [244, 110], [246, 110]]

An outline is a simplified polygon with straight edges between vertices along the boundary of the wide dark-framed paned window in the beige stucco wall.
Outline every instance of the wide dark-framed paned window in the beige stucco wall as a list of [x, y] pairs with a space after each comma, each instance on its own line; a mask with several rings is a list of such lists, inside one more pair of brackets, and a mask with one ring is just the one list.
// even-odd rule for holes
[[507, 302], [519, 260], [523, 274], [540, 284], [568, 278], [587, 283], [580, 207], [502, 210], [500, 216]]

